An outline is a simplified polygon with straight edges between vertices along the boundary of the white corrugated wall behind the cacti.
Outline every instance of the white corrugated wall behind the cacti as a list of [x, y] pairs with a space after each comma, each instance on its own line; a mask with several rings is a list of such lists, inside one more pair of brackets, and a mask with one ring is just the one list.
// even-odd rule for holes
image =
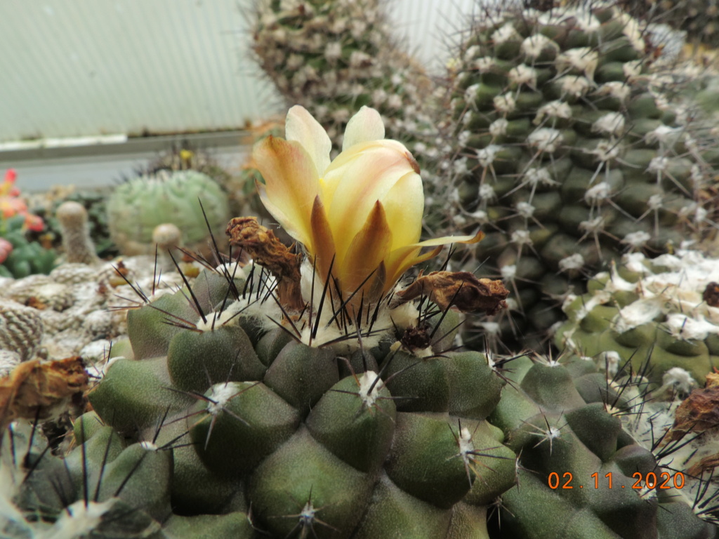
[[[396, 0], [431, 65], [474, 0]], [[275, 111], [247, 46], [252, 0], [0, 0], [0, 142], [232, 129]], [[434, 62], [434, 63], [433, 63]]]

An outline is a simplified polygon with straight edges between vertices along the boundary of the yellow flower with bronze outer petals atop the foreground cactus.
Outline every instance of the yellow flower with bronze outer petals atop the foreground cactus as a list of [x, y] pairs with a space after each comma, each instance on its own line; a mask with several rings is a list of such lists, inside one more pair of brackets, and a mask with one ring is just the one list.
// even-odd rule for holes
[[[452, 242], [475, 236], [419, 241], [424, 194], [419, 167], [400, 142], [385, 139], [375, 109], [363, 106], [347, 124], [342, 153], [330, 160], [331, 142], [301, 106], [285, 124], [287, 139], [267, 137], [253, 158], [265, 178], [265, 208], [303, 244], [319, 277], [330, 274], [344, 300], [367, 303], [388, 292], [409, 267]], [[421, 254], [423, 247], [435, 247]]]

